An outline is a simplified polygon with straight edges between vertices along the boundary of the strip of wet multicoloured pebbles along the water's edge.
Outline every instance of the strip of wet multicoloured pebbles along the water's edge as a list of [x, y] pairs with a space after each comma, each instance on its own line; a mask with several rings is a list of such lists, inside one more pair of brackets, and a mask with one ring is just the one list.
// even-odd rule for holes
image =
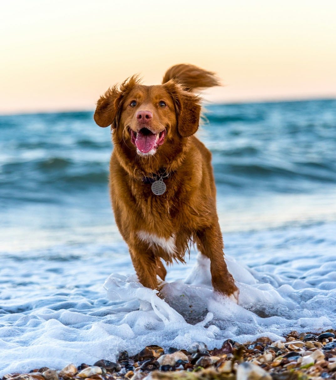
[[157, 345], [144, 347], [134, 356], [127, 351], [117, 362], [101, 359], [94, 364], [69, 364], [63, 369], [41, 367], [28, 373], [7, 374], [3, 380], [93, 379], [336, 379], [336, 330], [322, 333], [291, 331], [285, 342], [262, 337], [240, 344], [227, 339], [222, 347], [208, 350], [194, 342], [184, 350]]

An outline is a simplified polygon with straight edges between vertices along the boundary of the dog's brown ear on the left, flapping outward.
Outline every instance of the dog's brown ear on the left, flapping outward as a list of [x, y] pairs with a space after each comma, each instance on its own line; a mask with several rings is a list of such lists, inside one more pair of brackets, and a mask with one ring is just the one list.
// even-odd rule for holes
[[104, 95], [101, 95], [97, 102], [97, 108], [93, 119], [99, 127], [112, 128], [117, 127], [117, 115], [123, 94], [118, 90], [117, 86], [108, 89]]

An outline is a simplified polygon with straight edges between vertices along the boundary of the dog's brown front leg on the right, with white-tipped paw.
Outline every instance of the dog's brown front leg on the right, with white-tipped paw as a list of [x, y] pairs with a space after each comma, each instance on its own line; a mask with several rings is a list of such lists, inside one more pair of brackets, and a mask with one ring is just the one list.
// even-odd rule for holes
[[239, 289], [224, 261], [224, 244], [218, 223], [197, 232], [197, 247], [203, 255], [210, 258], [213, 289], [238, 302]]

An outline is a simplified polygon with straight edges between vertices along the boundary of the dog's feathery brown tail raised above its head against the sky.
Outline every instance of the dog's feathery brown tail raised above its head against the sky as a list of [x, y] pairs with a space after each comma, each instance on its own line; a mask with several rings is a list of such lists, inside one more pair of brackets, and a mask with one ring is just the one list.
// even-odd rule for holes
[[170, 79], [180, 83], [186, 91], [220, 86], [215, 73], [185, 63], [170, 67], [164, 74], [162, 84], [170, 81]]

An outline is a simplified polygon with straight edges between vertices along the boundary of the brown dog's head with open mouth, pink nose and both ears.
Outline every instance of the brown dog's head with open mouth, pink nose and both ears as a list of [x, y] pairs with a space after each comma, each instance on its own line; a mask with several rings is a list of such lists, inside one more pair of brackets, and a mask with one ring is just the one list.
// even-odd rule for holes
[[199, 126], [200, 98], [170, 79], [144, 86], [136, 76], [100, 97], [94, 115], [100, 127], [111, 125], [138, 155], [154, 155], [164, 144], [193, 135]]

